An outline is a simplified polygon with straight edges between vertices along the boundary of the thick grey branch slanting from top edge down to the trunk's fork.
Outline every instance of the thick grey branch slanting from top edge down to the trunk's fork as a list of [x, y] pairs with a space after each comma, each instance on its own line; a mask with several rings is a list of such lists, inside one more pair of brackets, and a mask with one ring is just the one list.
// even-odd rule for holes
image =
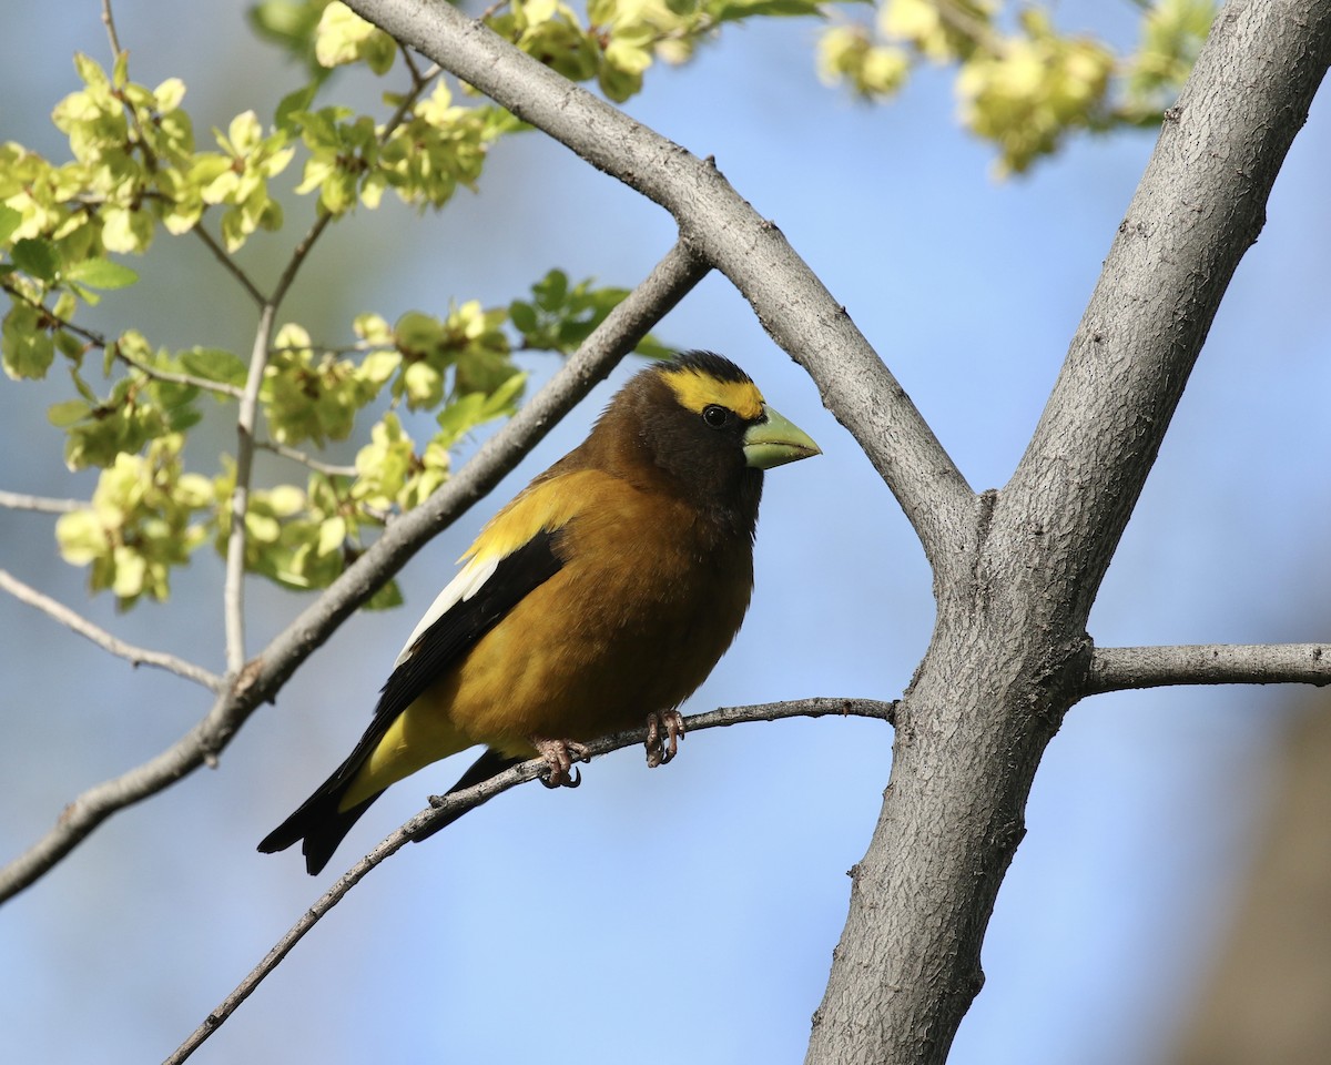
[[711, 160], [639, 125], [450, 4], [349, 7], [675, 216], [696, 253], [735, 284], [817, 382], [824, 405], [901, 502], [934, 571], [957, 564], [958, 536], [974, 511], [965, 478], [845, 308]]

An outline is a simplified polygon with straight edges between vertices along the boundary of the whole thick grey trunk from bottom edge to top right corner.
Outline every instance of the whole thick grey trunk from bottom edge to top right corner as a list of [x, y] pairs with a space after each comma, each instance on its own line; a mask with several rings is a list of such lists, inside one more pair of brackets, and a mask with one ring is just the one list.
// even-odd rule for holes
[[1082, 694], [1090, 604], [1328, 57], [1324, 0], [1217, 20], [1034, 438], [940, 595], [809, 1065], [946, 1060], [1036, 769]]

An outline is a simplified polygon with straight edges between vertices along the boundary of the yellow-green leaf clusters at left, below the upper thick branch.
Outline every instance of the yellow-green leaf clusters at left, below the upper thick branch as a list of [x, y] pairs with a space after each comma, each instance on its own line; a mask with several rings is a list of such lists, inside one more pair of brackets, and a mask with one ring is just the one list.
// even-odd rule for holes
[[[386, 117], [322, 105], [333, 68], [385, 75], [397, 44], [327, 0], [266, 3], [252, 20], [311, 64], [270, 120], [237, 114], [213, 130], [214, 146], [200, 149], [181, 80], [148, 88], [130, 80], [125, 53], [109, 72], [77, 56], [81, 87], [52, 116], [71, 158], [0, 146], [0, 286], [9, 296], [0, 357], [16, 381], [47, 377], [57, 359], [68, 373], [71, 394], [49, 421], [64, 435], [68, 467], [98, 475], [92, 499], [61, 517], [56, 538], [68, 562], [88, 568], [92, 590], [110, 591], [122, 607], [165, 599], [172, 568], [201, 544], [225, 556], [237, 514], [248, 571], [290, 588], [327, 586], [367, 538], [449, 478], [459, 442], [514, 411], [526, 381], [516, 351], [572, 351], [626, 296], [551, 270], [508, 305], [466, 300], [394, 322], [354, 314], [341, 346], [298, 322], [268, 335], [281, 293], [261, 293], [230, 256], [285, 228], [273, 178], [302, 166], [295, 194], [313, 201], [310, 242], [357, 208], [378, 208], [389, 189], [419, 210], [443, 208], [459, 185], [479, 180], [490, 145], [522, 126], [466, 93], [459, 101], [437, 71], [410, 60], [407, 85], [383, 96]], [[106, 338], [80, 322], [102, 293], [134, 285], [137, 273], [120, 257], [148, 253], [162, 232], [205, 240], [248, 286], [264, 312], [257, 357], [169, 350], [134, 329]], [[293, 252], [293, 273], [307, 250]], [[644, 345], [648, 354], [664, 350]], [[262, 487], [240, 483], [237, 455], [206, 449], [202, 467], [189, 462], [190, 431], [208, 410], [236, 418], [248, 394], [258, 411]], [[406, 414], [415, 431], [422, 415], [433, 427], [417, 438]], [[353, 439], [362, 443], [351, 463], [318, 458]], [[399, 599], [390, 586], [373, 606]]]

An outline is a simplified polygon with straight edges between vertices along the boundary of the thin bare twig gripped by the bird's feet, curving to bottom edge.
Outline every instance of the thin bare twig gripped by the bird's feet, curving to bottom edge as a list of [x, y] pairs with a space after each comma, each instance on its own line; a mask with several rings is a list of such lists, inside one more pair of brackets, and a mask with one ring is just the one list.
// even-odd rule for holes
[[[721, 728], [744, 722], [777, 722], [784, 718], [877, 718], [890, 722], [896, 703], [884, 703], [873, 699], [800, 699], [788, 703], [761, 703], [748, 707], [723, 707], [708, 714], [696, 714], [684, 719], [684, 726], [689, 732], [701, 732], [707, 728]], [[626, 732], [616, 732], [587, 744], [591, 757], [600, 757], [611, 751], [624, 747], [635, 747], [647, 739], [646, 728], [631, 728]], [[421, 833], [429, 833], [431, 827], [441, 823], [447, 824], [457, 820], [470, 809], [475, 809], [482, 803], [487, 803], [496, 795], [502, 795], [518, 784], [535, 780], [546, 769], [546, 763], [536, 757], [504, 769], [488, 780], [459, 791], [430, 799], [430, 808], [417, 813], [411, 820], [387, 836], [370, 853], [357, 861], [350, 869], [338, 877], [318, 901], [306, 909], [301, 919], [282, 936], [264, 960], [256, 965], [250, 973], [224, 998], [217, 1009], [204, 1018], [204, 1022], [194, 1029], [185, 1042], [182, 1042], [164, 1065], [180, 1065], [189, 1058], [212, 1036], [224, 1021], [226, 1021], [258, 988], [264, 978], [277, 968], [305, 933], [314, 928], [323, 916], [333, 909], [347, 892], [351, 891], [365, 876], [385, 859], [401, 851], [407, 843]]]

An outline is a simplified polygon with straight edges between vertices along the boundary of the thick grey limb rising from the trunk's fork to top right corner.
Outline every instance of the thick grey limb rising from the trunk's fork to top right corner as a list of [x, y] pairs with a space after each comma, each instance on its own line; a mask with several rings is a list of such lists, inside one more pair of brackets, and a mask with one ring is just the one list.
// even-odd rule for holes
[[[1230, 278], [1266, 222], [1327, 69], [1328, 11], [1312, 0], [1234, 0], [1218, 16], [1000, 495], [993, 552], [1016, 547], [1042, 567], [1057, 559], [1046, 598], [1082, 622]], [[1086, 550], [1050, 550], [1069, 536]]]

